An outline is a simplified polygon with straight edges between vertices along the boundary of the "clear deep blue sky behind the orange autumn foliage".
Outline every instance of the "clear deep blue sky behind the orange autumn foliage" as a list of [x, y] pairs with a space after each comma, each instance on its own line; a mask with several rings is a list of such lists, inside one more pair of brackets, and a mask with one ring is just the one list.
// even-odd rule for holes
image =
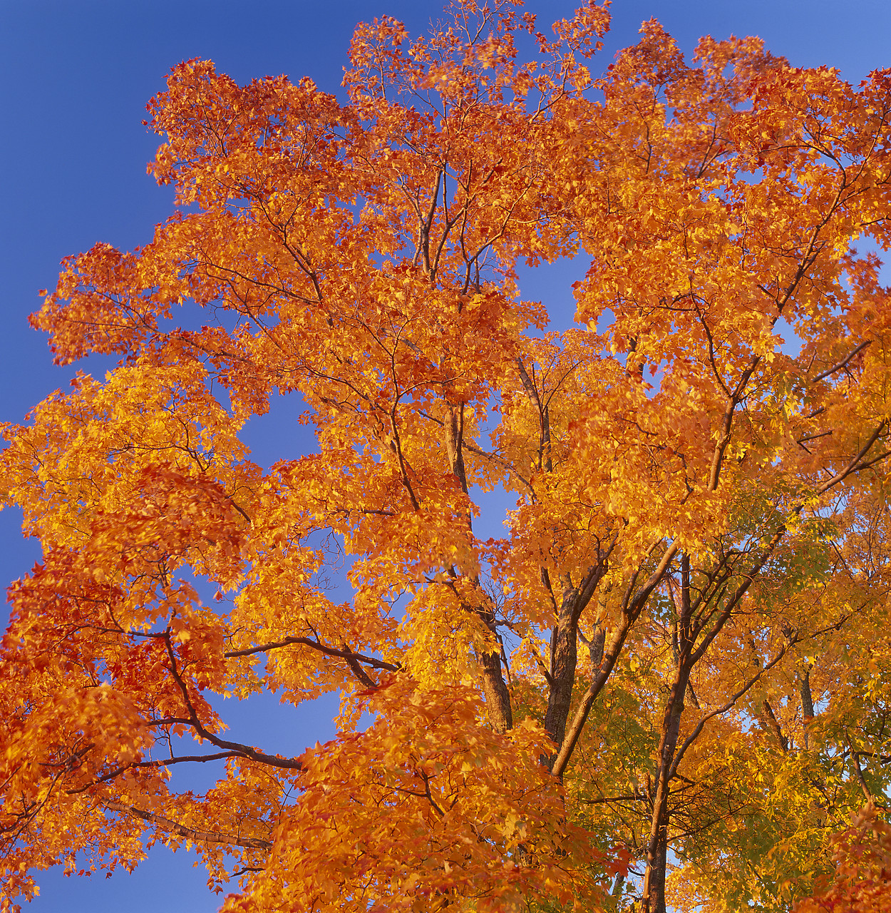
[[[539, 0], [527, 8], [539, 26], [569, 16], [572, 0]], [[145, 173], [156, 138], [140, 121], [166, 72], [187, 58], [210, 58], [240, 82], [286, 73], [309, 76], [339, 91], [352, 27], [389, 14], [417, 34], [441, 11], [436, 0], [0, 0], [0, 421], [21, 422], [27, 409], [67, 385], [74, 368], [54, 368], [46, 340], [26, 318], [39, 307], [37, 289], [55, 285], [59, 260], [98, 241], [131, 248], [150, 239], [171, 211], [171, 192]], [[633, 44], [641, 21], [656, 16], [685, 52], [699, 36], [760, 35], [795, 66], [828, 64], [859, 81], [891, 66], [888, 0], [615, 0], [613, 31], [602, 66]], [[565, 308], [563, 270], [532, 281], [528, 298], [554, 292]], [[561, 323], [568, 320], [561, 320]], [[102, 373], [108, 362], [80, 366]], [[297, 456], [277, 415], [250, 426], [259, 462]], [[285, 425], [289, 423], [284, 423]], [[12, 512], [0, 515], [0, 581], [26, 572], [39, 557], [22, 542]], [[272, 750], [302, 750], [330, 738], [330, 707], [309, 708]], [[268, 743], [266, 708], [239, 714], [238, 738]], [[210, 913], [208, 894], [192, 857], [157, 847], [133, 876], [101, 874], [41, 879], [33, 913]]]

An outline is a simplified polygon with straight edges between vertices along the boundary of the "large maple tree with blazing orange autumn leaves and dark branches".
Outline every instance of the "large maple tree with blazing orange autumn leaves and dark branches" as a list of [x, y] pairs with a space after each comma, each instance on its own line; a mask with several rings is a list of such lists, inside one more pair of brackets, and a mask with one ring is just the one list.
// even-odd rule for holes
[[[181, 210], [34, 318], [119, 366], [5, 431], [44, 549], [2, 657], [9, 897], [158, 838], [231, 911], [784, 910], [829, 876], [891, 759], [891, 310], [854, 247], [888, 245], [891, 73], [688, 64], [651, 21], [592, 79], [607, 26], [385, 17], [343, 105], [171, 71]], [[517, 266], [576, 254], [585, 329], [547, 332]], [[264, 473], [272, 394], [318, 453]], [[337, 740], [228, 738], [214, 696], [259, 689], [337, 692]]]

